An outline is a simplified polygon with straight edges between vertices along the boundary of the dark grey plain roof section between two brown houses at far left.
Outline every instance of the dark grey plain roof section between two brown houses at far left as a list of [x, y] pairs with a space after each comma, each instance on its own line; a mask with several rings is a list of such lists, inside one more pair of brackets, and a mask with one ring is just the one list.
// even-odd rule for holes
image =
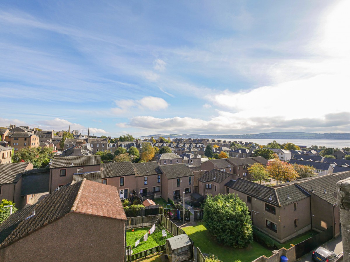
[[22, 174], [21, 196], [49, 192], [50, 169], [26, 170]]

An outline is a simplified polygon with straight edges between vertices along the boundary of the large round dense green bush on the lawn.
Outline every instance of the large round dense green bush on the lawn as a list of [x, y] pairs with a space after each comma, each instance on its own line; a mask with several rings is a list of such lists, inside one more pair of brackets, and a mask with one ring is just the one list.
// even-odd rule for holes
[[203, 219], [209, 232], [223, 245], [243, 248], [253, 240], [248, 208], [235, 194], [209, 195], [204, 204]]

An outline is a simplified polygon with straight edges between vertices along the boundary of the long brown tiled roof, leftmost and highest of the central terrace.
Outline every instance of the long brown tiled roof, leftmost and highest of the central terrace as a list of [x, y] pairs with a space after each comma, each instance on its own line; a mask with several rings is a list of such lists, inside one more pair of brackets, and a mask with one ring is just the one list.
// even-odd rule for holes
[[56, 157], [50, 168], [95, 166], [101, 164], [100, 155], [79, 155], [76, 157]]

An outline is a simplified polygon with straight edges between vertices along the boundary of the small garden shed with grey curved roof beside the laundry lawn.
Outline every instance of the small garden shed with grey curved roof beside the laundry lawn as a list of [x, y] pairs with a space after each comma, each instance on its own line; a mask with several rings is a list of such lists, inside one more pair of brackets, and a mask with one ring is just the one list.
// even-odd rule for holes
[[186, 234], [167, 239], [166, 252], [170, 262], [187, 261], [193, 257], [193, 244]]

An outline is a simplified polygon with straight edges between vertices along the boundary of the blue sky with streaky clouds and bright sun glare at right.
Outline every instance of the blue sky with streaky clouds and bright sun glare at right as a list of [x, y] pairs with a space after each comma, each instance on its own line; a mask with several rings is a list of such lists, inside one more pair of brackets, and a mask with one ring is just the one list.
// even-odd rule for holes
[[0, 126], [349, 132], [348, 1], [2, 1]]

